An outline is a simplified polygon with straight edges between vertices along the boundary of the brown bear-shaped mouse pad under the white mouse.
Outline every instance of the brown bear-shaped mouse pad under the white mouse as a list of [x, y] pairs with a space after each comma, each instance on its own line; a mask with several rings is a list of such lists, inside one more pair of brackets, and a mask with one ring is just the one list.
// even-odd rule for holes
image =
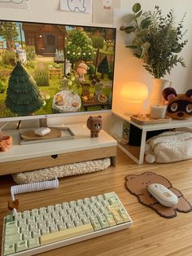
[[[176, 217], [177, 211], [181, 213], [188, 213], [192, 211], [192, 205], [190, 205], [190, 202], [185, 199], [183, 194], [177, 188], [172, 188], [172, 183], [170, 183], [168, 179], [164, 178], [164, 176], [152, 172], [146, 172], [138, 175], [129, 174], [125, 179], [125, 185], [129, 192], [131, 192], [134, 196], [137, 196], [138, 201], [142, 205], [151, 207], [151, 209], [155, 210], [164, 218]], [[151, 196], [151, 194], [147, 191], [147, 187], [151, 183], [162, 184], [164, 187], [171, 190], [178, 197], [177, 205], [172, 207], [160, 205], [159, 202], [156, 201], [155, 197]]]

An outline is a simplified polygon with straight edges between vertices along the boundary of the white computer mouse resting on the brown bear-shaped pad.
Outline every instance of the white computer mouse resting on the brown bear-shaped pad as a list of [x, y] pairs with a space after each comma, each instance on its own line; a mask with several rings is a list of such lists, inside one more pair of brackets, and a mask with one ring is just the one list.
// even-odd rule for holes
[[178, 197], [162, 184], [151, 183], [147, 189], [161, 205], [172, 207], [178, 203]]

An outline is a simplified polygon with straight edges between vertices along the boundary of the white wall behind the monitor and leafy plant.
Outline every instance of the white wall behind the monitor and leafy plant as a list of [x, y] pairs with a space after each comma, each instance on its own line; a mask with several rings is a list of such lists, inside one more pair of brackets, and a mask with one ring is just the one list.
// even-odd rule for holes
[[[93, 0], [97, 1], [97, 0]], [[116, 0], [115, 0], [116, 1]], [[121, 0], [121, 10], [125, 13], [131, 13], [133, 3], [137, 1], [133, 0]], [[139, 2], [139, 1], [138, 1]], [[188, 44], [185, 46], [181, 55], [185, 59], [187, 68], [182, 68], [178, 65], [172, 70], [170, 76], [166, 78], [172, 81], [172, 85], [176, 88], [177, 92], [185, 92], [189, 89], [192, 81], [192, 73], [190, 69], [192, 68], [192, 31], [190, 29], [190, 24], [192, 24], [192, 11], [191, 11], [191, 0], [142, 0], [142, 9], [144, 11], [153, 10], [155, 4], [162, 8], [164, 14], [166, 14], [171, 8], [174, 9], [177, 21], [181, 20], [182, 15], [187, 11], [185, 18], [185, 29], [188, 29], [187, 38], [189, 40]], [[115, 25], [119, 30], [119, 24], [116, 23], [116, 16], [114, 17]], [[61, 23], [61, 24], [86, 24], [94, 25], [92, 17], [89, 14], [76, 14], [64, 11], [59, 11], [59, 0], [30, 0], [30, 8], [28, 10], [14, 10], [11, 8], [0, 8], [0, 19], [6, 20], [25, 20], [25, 21], [39, 21], [39, 22], [49, 22], [49, 23]], [[123, 20], [122, 20], [123, 22]], [[107, 24], [96, 24], [107, 26]], [[123, 39], [122, 39], [123, 37]], [[113, 96], [113, 108], [122, 108], [122, 101], [119, 97], [120, 87], [129, 81], [144, 82], [151, 90], [151, 75], [149, 75], [145, 68], [142, 67], [142, 60], [138, 60], [133, 57], [131, 51], [125, 47], [126, 42], [129, 42], [129, 35], [117, 31], [117, 43], [116, 43], [116, 73], [115, 73], [115, 86], [114, 86], [114, 96]], [[77, 122], [85, 121], [87, 116], [76, 117], [65, 117], [66, 122]], [[105, 129], [108, 129], [110, 115], [103, 115]], [[53, 120], [54, 122], [56, 121]], [[58, 122], [58, 120], [56, 121]], [[61, 121], [63, 122], [63, 120]]]

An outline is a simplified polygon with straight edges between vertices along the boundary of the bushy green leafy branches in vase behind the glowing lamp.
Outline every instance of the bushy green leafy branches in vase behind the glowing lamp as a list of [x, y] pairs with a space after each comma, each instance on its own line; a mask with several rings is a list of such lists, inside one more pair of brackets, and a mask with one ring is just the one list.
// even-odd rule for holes
[[[162, 15], [160, 8], [155, 6], [154, 11], [143, 12], [138, 2], [133, 5], [132, 10], [131, 24], [121, 27], [125, 33], [134, 34], [131, 45], [127, 47], [133, 49], [133, 55], [143, 60], [144, 68], [154, 78], [158, 78], [155, 83], [161, 84], [165, 80], [159, 78], [170, 74], [174, 66], [181, 64], [185, 67], [185, 61], [177, 55], [187, 43], [187, 40], [184, 40], [186, 30], [182, 32], [185, 15], [175, 25], [173, 10], [167, 15]], [[152, 92], [151, 97], [154, 100], [159, 100], [159, 97], [161, 99], [161, 91], [161, 88], [158, 91], [155, 88], [155, 95]]]

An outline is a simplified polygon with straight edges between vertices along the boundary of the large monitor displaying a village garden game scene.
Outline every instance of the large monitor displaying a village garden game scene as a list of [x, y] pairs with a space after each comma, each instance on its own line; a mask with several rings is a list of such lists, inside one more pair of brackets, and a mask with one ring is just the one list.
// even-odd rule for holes
[[111, 109], [116, 29], [0, 20], [0, 121]]

